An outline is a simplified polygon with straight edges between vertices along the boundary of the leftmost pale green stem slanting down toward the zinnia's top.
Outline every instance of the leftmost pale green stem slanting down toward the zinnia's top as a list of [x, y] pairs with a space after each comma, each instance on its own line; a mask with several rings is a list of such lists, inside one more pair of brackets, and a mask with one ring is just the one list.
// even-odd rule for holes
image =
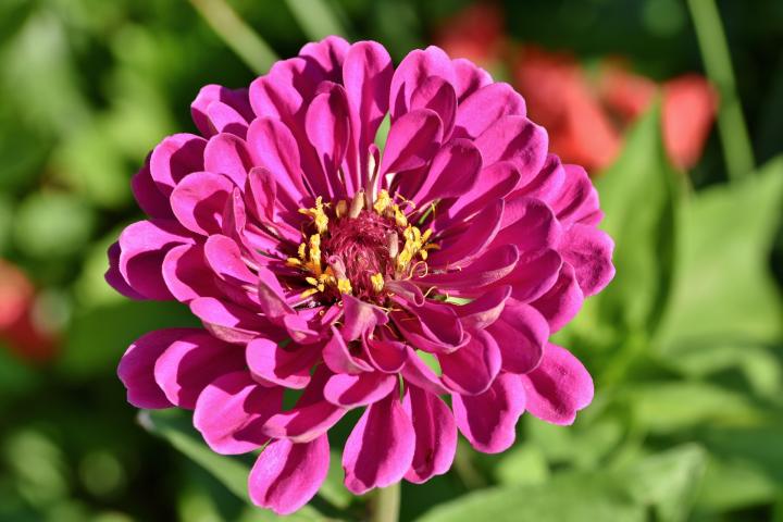
[[256, 74], [264, 74], [278, 60], [272, 48], [225, 0], [190, 0], [190, 3]]

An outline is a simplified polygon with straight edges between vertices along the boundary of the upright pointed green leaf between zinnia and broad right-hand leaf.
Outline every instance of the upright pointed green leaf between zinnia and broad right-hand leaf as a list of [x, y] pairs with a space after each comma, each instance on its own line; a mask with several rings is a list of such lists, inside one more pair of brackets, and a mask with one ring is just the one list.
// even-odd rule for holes
[[676, 173], [663, 151], [658, 105], [630, 132], [618, 161], [598, 178], [602, 224], [614, 239], [614, 281], [593, 298], [605, 323], [654, 332], [674, 265], [680, 201]]

